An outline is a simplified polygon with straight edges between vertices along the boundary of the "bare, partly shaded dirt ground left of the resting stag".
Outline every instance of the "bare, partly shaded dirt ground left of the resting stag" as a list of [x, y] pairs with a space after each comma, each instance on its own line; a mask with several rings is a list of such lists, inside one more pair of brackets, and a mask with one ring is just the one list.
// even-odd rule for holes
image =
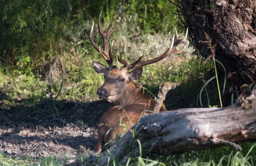
[[15, 106], [9, 106], [0, 100], [0, 152], [63, 160], [93, 153], [99, 119], [109, 106], [105, 100], [26, 102], [16, 100]]

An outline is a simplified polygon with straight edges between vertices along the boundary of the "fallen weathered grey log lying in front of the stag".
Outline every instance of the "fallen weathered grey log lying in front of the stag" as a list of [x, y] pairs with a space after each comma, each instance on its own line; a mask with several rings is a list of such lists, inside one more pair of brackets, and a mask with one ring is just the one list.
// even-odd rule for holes
[[138, 142], [143, 155], [149, 152], [174, 155], [218, 146], [241, 150], [236, 143], [248, 141], [256, 141], [256, 85], [250, 97], [222, 109], [179, 109], [143, 117], [109, 149], [98, 165], [112, 163], [113, 158], [125, 165], [127, 157], [140, 155]]

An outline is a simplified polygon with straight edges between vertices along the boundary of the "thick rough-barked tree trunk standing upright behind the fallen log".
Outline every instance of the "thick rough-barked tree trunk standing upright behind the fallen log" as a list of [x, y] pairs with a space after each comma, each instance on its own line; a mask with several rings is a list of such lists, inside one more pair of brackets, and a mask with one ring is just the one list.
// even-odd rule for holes
[[227, 73], [236, 72], [239, 87], [256, 81], [256, 1], [255, 0], [175, 0], [189, 28], [190, 43], [208, 57], [205, 33], [218, 43], [216, 59]]

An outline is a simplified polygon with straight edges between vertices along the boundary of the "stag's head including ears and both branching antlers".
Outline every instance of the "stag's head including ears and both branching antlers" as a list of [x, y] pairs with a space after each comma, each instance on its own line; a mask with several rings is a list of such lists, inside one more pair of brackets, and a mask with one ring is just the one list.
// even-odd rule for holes
[[[117, 23], [117, 25], [111, 31], [113, 22], [116, 20], [116, 17], [117, 17], [116, 15], [116, 17], [111, 21], [110, 25], [108, 26], [107, 31], [103, 32], [100, 25], [101, 14], [102, 14], [102, 11], [99, 14], [98, 29], [99, 29], [99, 34], [102, 36], [102, 40], [103, 40], [103, 46], [104, 46], [103, 50], [100, 49], [100, 47], [96, 46], [96, 44], [93, 41], [94, 23], [90, 31], [90, 42], [93, 45], [93, 47], [102, 55], [102, 57], [105, 58], [105, 60], [108, 63], [108, 68], [107, 68], [103, 64], [93, 61], [94, 70], [98, 74], [104, 75], [104, 78], [105, 78], [105, 82], [98, 89], [97, 94], [99, 95], [99, 97], [105, 98], [111, 103], [117, 102], [122, 98], [121, 96], [123, 95], [123, 92], [129, 91], [132, 87], [135, 87], [133, 80], [137, 80], [141, 77], [141, 74], [143, 71], [141, 67], [163, 60], [170, 54], [180, 53], [183, 51], [185, 47], [184, 45], [181, 49], [179, 50], [176, 49], [177, 45], [179, 45], [184, 40], [186, 40], [188, 29], [186, 30], [185, 37], [183, 37], [182, 39], [178, 39], [177, 30], [175, 28], [175, 35], [172, 38], [172, 45], [163, 54], [161, 54], [160, 56], [154, 59], [140, 62], [140, 60], [142, 60], [142, 58], [145, 55], [145, 52], [144, 52], [143, 55], [132, 64], [129, 64], [126, 60], [122, 60], [122, 58], [120, 57], [120, 54], [118, 54], [118, 61], [122, 63], [124, 66], [122, 66], [121, 69], [116, 69], [116, 66], [113, 65], [113, 54], [112, 54], [113, 42], [108, 51], [108, 40], [111, 34], [116, 30], [117, 26], [119, 26], [121, 21]], [[129, 72], [130, 70], [132, 71]]]

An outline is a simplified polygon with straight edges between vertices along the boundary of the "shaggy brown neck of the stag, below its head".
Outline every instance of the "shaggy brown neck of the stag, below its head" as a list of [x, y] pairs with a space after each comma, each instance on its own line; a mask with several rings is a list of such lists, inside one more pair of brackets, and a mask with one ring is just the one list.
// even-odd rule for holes
[[115, 105], [120, 105], [122, 107], [127, 106], [132, 103], [147, 103], [150, 97], [141, 92], [132, 81], [128, 84], [128, 88], [122, 92], [120, 99], [115, 103]]

